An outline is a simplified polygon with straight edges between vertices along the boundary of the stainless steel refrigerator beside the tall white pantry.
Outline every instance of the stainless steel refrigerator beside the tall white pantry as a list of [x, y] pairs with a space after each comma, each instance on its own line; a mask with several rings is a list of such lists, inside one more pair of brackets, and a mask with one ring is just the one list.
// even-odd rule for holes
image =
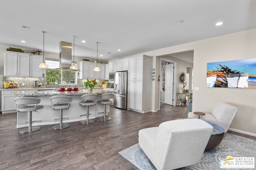
[[127, 109], [128, 71], [116, 72], [114, 82], [114, 106]]

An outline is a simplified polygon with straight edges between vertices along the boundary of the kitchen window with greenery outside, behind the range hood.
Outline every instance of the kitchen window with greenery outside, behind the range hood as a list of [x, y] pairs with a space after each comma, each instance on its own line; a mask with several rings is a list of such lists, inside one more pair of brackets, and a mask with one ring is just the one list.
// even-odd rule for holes
[[59, 60], [46, 59], [45, 63], [48, 65], [48, 68], [45, 69], [46, 84], [48, 82], [49, 84], [62, 83], [62, 85], [69, 85], [70, 81], [75, 81], [75, 84], [76, 84], [77, 74], [75, 71], [54, 70], [55, 68], [59, 68], [60, 66]]

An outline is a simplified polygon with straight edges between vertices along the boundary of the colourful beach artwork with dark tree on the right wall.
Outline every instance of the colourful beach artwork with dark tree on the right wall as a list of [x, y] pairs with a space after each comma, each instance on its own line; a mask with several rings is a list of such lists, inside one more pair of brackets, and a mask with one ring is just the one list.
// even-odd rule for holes
[[256, 59], [207, 63], [207, 87], [256, 88]]

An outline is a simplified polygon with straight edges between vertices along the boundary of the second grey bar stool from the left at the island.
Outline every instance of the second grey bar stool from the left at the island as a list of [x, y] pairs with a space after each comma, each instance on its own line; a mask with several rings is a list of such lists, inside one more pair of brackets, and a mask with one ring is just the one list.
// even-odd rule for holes
[[[52, 96], [50, 97], [50, 101], [52, 103], [52, 109], [60, 109], [60, 124], [59, 125], [55, 125], [52, 127], [52, 129], [64, 129], [69, 127], [68, 123], [62, 123], [62, 119], [68, 119], [69, 117], [62, 117], [62, 109], [68, 109], [70, 106], [70, 102], [72, 101], [72, 97], [70, 96], [65, 96], [65, 95], [61, 95], [61, 96]], [[58, 119], [54, 119], [54, 120], [58, 120]]]

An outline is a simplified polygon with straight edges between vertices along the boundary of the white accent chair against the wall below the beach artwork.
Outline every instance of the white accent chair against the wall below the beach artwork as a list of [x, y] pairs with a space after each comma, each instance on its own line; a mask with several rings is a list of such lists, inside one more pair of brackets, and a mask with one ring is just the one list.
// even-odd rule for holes
[[[237, 110], [237, 107], [221, 102], [214, 107], [212, 114], [205, 113], [205, 115], [200, 116], [200, 119], [220, 125], [226, 133], [236, 115]], [[198, 119], [198, 116], [193, 112], [189, 112], [188, 118]]]

